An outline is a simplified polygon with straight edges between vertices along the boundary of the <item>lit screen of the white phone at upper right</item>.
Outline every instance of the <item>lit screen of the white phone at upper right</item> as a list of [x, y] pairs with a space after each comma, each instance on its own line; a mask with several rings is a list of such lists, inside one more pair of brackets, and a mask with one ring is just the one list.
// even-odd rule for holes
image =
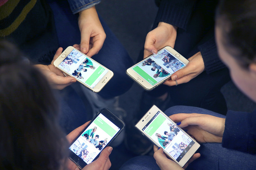
[[177, 59], [172, 53], [162, 49], [156, 55], [152, 55], [147, 60], [136, 64], [132, 67], [132, 70], [153, 86], [184, 66], [186, 64]]

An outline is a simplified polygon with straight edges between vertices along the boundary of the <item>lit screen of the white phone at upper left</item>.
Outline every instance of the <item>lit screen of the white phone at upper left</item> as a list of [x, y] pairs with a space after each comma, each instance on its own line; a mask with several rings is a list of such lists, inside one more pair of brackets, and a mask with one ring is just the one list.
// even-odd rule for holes
[[90, 57], [83, 55], [75, 49], [66, 56], [58, 67], [91, 88], [94, 88], [108, 72], [107, 69], [94, 62]]

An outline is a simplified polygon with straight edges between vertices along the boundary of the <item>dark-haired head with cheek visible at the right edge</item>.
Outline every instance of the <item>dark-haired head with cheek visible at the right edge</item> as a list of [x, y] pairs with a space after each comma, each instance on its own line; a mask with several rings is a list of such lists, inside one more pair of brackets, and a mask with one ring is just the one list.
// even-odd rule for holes
[[216, 43], [232, 80], [256, 102], [256, 1], [222, 0], [216, 11]]

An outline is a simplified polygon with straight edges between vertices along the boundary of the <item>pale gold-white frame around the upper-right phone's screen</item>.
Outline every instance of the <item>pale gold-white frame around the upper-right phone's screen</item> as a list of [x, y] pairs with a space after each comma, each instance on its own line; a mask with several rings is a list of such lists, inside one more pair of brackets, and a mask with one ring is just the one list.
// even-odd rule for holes
[[[172, 47], [170, 47], [170, 46], [166, 46], [166, 47], [164, 47], [164, 48], [158, 50], [158, 52], [159, 52], [159, 51], [162, 51], [163, 49], [166, 49], [166, 50], [169, 51], [176, 59], [179, 59], [180, 61], [182, 61], [182, 62], [185, 64], [184, 67], [186, 67], [186, 65], [188, 64], [189, 61], [188, 61], [185, 57], [183, 57], [180, 53], [178, 53], [176, 50], [174, 50], [174, 49], [173, 49]], [[169, 76], [166, 76], [166, 78], [164, 78], [164, 79], [161, 80], [160, 82], [158, 82], [158, 83], [156, 83], [156, 84], [154, 84], [154, 85], [151, 85], [151, 84], [150, 84], [149, 82], [147, 82], [144, 78], [142, 78], [142, 76], [140, 76], [140, 74], [138, 74], [137, 72], [135, 72], [135, 71], [132, 69], [134, 66], [136, 66], [137, 64], [140, 64], [140, 63], [146, 61], [148, 58], [152, 57], [153, 55], [154, 55], [154, 54], [148, 56], [147, 58], [145, 58], [145, 59], [143, 59], [142, 61], [140, 61], [140, 62], [134, 64], [133, 66], [131, 66], [130, 68], [128, 68], [128, 69], [126, 70], [126, 74], [127, 74], [130, 78], [132, 78], [136, 83], [138, 83], [140, 86], [142, 86], [142, 88], [144, 88], [144, 90], [146, 90], [146, 91], [151, 91], [151, 90], [153, 90], [153, 89], [156, 88], [157, 86], [159, 86], [159, 85], [161, 85], [162, 83], [164, 83], [166, 80], [170, 79], [170, 77], [172, 76], [172, 74], [170, 74]], [[183, 68], [184, 68], [184, 67], [183, 67]], [[181, 69], [183, 69], [183, 68], [181, 68]]]

